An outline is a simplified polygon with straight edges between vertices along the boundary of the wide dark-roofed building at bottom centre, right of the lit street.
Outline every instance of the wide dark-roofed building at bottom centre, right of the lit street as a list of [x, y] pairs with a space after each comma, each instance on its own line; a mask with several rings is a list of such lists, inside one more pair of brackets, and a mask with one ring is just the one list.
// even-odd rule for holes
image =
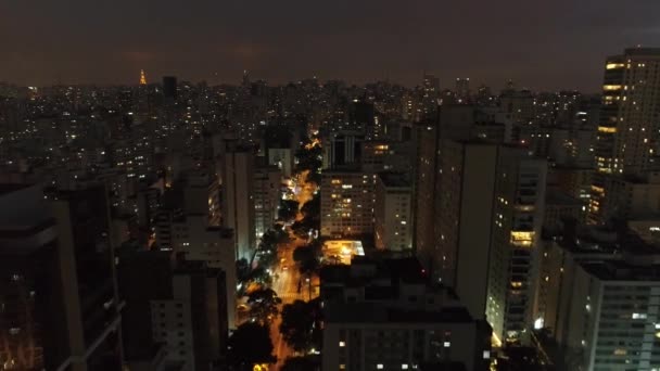
[[321, 271], [321, 370], [483, 370], [491, 329], [446, 287], [429, 284], [415, 259]]

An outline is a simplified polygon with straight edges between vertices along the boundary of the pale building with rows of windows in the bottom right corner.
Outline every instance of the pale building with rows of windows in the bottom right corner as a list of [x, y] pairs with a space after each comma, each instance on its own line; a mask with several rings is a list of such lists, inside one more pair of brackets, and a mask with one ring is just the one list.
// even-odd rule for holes
[[558, 341], [569, 370], [660, 369], [658, 264], [580, 263], [562, 296]]

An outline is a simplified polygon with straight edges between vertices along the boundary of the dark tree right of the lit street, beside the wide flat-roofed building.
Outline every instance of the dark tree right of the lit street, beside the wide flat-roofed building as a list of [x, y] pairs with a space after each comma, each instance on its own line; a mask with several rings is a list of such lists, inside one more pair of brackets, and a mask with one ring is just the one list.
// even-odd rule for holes
[[282, 307], [280, 333], [294, 350], [304, 351], [313, 345], [314, 307], [303, 300], [295, 300]]

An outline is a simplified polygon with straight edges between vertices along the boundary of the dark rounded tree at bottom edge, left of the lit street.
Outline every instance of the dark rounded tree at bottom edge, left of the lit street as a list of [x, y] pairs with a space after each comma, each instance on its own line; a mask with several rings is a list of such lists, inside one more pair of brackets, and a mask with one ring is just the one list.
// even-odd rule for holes
[[272, 348], [267, 325], [245, 322], [229, 337], [227, 360], [236, 370], [251, 371], [253, 364], [277, 360]]

